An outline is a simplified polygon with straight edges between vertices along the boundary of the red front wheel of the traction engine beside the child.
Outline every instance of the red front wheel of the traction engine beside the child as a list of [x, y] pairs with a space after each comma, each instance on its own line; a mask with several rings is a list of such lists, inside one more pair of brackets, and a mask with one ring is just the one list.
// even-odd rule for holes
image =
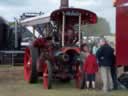
[[76, 87], [79, 89], [84, 89], [85, 87], [85, 73], [81, 66], [77, 66], [76, 77], [75, 77]]

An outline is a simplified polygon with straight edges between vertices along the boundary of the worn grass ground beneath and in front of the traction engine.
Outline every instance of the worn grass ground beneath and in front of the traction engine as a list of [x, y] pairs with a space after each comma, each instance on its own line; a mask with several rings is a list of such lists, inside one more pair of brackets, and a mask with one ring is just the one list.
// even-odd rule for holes
[[103, 93], [101, 90], [79, 90], [73, 83], [55, 82], [45, 90], [42, 82], [28, 84], [23, 80], [23, 67], [0, 66], [0, 96], [128, 96], [128, 90]]

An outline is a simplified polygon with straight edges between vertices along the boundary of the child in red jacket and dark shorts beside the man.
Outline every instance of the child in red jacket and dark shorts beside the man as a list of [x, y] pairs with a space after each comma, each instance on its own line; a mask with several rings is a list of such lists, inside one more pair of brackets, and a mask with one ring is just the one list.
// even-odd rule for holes
[[90, 88], [95, 88], [95, 74], [98, 71], [98, 64], [96, 57], [90, 52], [86, 52], [86, 60], [84, 62], [84, 71], [86, 72], [86, 86]]

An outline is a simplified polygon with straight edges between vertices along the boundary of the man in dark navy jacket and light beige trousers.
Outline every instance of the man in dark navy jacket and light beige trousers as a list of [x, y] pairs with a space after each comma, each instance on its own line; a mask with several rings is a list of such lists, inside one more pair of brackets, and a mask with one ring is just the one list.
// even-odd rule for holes
[[105, 39], [100, 39], [100, 48], [96, 53], [98, 63], [100, 66], [101, 78], [103, 81], [103, 91], [112, 89], [111, 66], [113, 65], [114, 50], [107, 44]]

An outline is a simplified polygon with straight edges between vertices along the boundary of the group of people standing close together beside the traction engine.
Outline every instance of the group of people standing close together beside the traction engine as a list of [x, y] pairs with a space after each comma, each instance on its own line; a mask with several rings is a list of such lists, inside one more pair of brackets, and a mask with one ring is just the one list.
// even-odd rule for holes
[[105, 38], [92, 48], [87, 43], [81, 46], [81, 59], [86, 78], [86, 88], [96, 88], [96, 74], [100, 72], [104, 92], [118, 89], [114, 49]]

